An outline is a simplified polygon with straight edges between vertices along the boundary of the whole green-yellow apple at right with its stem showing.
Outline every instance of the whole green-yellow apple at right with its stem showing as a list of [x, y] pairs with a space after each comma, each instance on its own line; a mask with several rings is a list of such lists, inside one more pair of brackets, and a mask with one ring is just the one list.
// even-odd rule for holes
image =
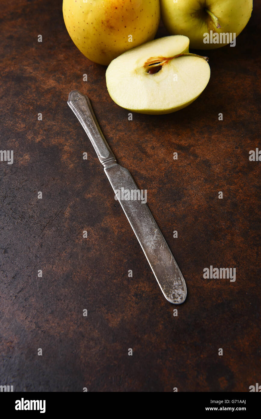
[[190, 47], [197, 49], [219, 48], [231, 43], [243, 31], [253, 8], [252, 0], [160, 2], [161, 17], [169, 33], [188, 36]]

